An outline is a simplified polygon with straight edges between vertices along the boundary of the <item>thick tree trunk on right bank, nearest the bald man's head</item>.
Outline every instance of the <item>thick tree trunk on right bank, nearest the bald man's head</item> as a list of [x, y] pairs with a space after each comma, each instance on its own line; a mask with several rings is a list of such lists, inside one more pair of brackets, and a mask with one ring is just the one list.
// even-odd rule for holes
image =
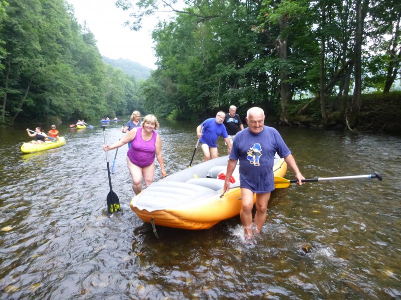
[[[280, 32], [283, 32], [287, 26], [287, 17], [282, 16], [280, 19]], [[277, 53], [281, 60], [287, 60], [287, 40], [283, 36], [279, 36], [277, 40]], [[280, 68], [280, 104], [281, 104], [281, 115], [280, 121], [288, 124], [288, 113], [287, 105], [291, 99], [290, 84], [288, 83], [288, 73], [283, 63]]]

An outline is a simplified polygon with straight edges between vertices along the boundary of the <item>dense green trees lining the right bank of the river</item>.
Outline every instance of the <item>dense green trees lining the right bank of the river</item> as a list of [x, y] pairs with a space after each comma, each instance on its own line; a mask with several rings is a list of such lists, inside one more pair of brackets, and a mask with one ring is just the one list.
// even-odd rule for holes
[[[185, 4], [179, 9], [175, 1], [117, 1], [131, 12], [134, 30], [156, 10], [177, 13], [153, 31], [157, 70], [142, 86], [145, 107], [160, 115], [213, 115], [230, 104], [244, 114], [258, 105], [291, 123], [317, 102], [323, 125], [340, 121], [354, 128], [362, 92], [386, 94], [399, 78], [399, 0]], [[289, 106], [306, 97], [312, 98], [290, 115]], [[329, 97], [343, 99], [336, 113], [329, 113]]]

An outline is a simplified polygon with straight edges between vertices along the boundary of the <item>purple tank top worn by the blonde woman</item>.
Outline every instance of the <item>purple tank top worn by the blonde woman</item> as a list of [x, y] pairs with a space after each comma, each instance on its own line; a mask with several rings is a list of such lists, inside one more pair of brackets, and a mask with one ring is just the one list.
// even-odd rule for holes
[[136, 127], [136, 134], [131, 141], [127, 156], [133, 164], [145, 167], [154, 162], [157, 132], [153, 130], [153, 135], [149, 140], [142, 138], [142, 126]]

